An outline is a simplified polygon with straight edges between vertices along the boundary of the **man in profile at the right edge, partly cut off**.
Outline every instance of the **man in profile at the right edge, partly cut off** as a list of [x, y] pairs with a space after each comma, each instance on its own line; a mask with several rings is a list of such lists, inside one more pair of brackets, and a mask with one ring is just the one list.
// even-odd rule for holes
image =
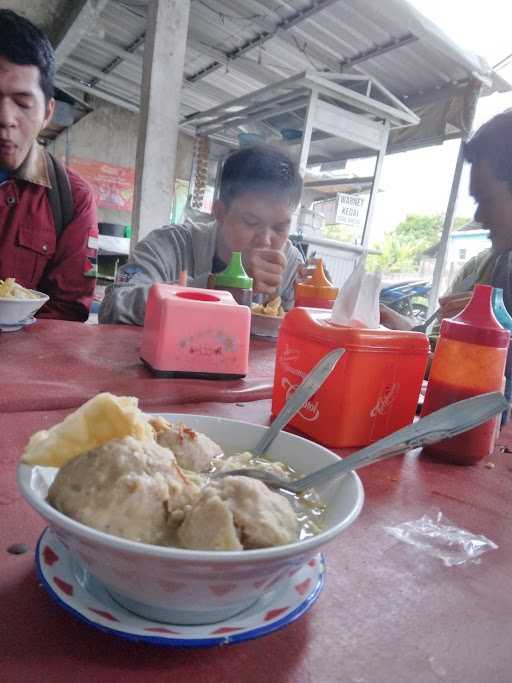
[[[468, 303], [477, 283], [503, 289], [512, 314], [512, 110], [485, 123], [466, 143], [471, 164], [470, 192], [477, 204], [475, 220], [489, 230], [491, 249], [470, 259], [448, 292], [439, 299], [439, 318], [451, 318]], [[383, 325], [410, 329], [404, 316], [381, 306]]]

